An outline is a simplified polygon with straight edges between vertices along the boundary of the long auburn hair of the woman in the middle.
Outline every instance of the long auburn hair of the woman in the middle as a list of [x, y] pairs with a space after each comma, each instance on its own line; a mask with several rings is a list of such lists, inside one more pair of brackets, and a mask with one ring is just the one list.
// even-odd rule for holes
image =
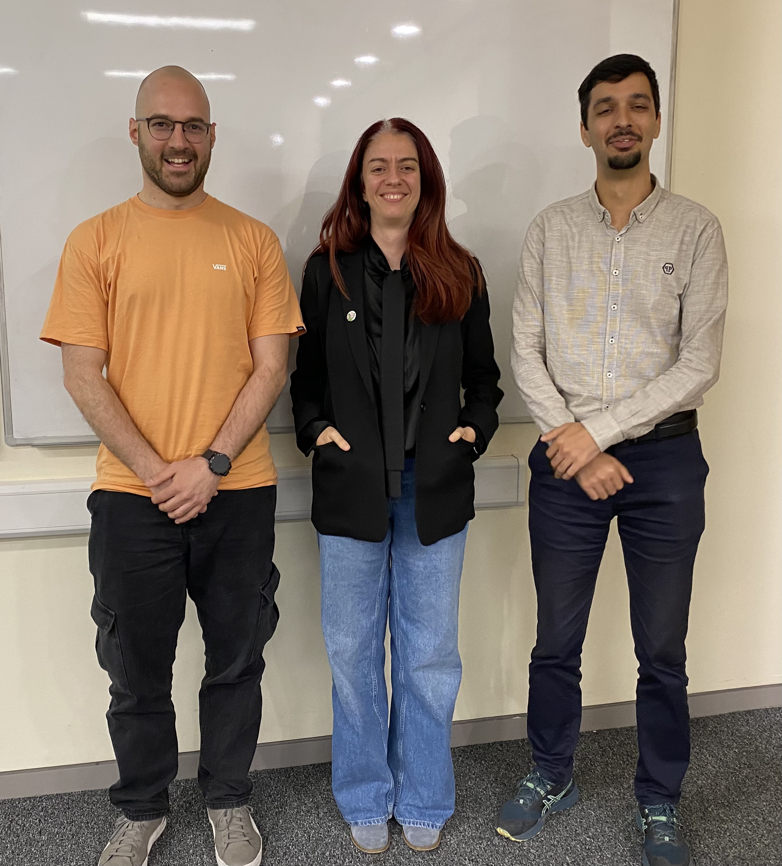
[[370, 232], [369, 204], [364, 201], [361, 172], [372, 139], [385, 132], [407, 135], [416, 145], [421, 172], [421, 197], [407, 236], [407, 263], [416, 284], [414, 312], [425, 324], [461, 319], [473, 291], [483, 290], [483, 275], [475, 258], [457, 243], [445, 224], [445, 177], [430, 140], [402, 117], [378, 120], [362, 133], [353, 148], [337, 201], [323, 217], [318, 246], [312, 255], [328, 253], [334, 282], [347, 297], [337, 254], [359, 249]]

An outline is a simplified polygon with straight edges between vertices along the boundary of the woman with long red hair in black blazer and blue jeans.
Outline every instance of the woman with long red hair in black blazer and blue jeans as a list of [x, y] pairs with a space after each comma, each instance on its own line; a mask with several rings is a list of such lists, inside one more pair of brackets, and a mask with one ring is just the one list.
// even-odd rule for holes
[[443, 169], [409, 120], [360, 137], [301, 312], [291, 396], [313, 453], [334, 797], [359, 849], [385, 850], [393, 816], [430, 850], [454, 811], [459, 581], [502, 391], [480, 265], [449, 233]]

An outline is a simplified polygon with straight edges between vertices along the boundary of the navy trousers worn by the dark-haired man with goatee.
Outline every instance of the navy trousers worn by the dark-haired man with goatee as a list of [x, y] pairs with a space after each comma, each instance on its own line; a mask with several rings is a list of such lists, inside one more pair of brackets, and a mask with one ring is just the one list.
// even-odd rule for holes
[[708, 465], [697, 430], [608, 453], [635, 482], [591, 501], [554, 478], [540, 440], [529, 456], [529, 533], [538, 594], [527, 733], [544, 778], [572, 776], [581, 724], [581, 649], [611, 520], [617, 518], [638, 659], [635, 791], [642, 805], [678, 803], [689, 763], [684, 639]]

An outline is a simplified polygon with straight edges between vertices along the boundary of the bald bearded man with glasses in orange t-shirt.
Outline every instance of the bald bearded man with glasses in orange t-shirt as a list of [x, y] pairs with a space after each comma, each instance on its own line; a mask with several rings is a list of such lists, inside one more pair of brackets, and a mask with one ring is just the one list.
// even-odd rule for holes
[[130, 137], [143, 187], [68, 237], [41, 335], [101, 441], [89, 565], [122, 814], [100, 866], [146, 863], [165, 828], [186, 595], [206, 648], [198, 784], [217, 863], [247, 866], [261, 862], [249, 766], [280, 578], [264, 420], [304, 328], [274, 232], [204, 192], [215, 124], [201, 83], [148, 75]]

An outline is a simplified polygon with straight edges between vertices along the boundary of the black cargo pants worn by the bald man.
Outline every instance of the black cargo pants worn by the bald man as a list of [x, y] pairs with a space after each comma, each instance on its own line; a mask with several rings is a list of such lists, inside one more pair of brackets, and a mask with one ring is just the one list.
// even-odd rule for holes
[[223, 490], [181, 526], [146, 496], [96, 490], [87, 501], [96, 650], [111, 677], [107, 719], [120, 768], [109, 796], [127, 818], [168, 811], [178, 770], [171, 667], [185, 593], [206, 650], [198, 785], [211, 808], [249, 801], [262, 652], [278, 618], [276, 489]]

